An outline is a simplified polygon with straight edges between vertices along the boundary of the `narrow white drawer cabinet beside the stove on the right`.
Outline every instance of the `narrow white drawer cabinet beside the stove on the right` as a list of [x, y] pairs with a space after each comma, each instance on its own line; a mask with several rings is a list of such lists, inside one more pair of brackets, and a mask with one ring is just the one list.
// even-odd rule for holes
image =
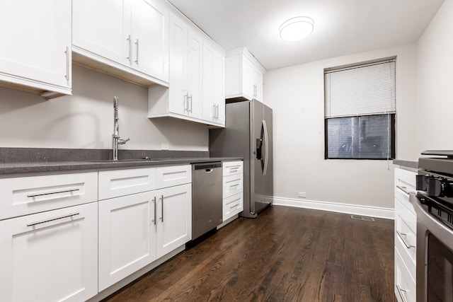
[[409, 192], [415, 192], [413, 170], [395, 168], [395, 295], [399, 302], [416, 301], [417, 216]]

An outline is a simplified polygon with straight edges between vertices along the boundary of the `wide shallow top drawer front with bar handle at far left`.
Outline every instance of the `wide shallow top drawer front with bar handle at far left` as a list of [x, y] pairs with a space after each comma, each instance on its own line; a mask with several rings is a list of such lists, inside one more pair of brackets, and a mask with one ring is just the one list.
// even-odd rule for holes
[[98, 173], [0, 179], [0, 219], [95, 202]]

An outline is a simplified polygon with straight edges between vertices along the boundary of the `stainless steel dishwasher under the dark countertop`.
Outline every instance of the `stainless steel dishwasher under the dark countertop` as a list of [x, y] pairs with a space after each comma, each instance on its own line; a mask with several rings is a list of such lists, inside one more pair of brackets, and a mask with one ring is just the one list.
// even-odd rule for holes
[[222, 163], [192, 165], [192, 240], [222, 223]]

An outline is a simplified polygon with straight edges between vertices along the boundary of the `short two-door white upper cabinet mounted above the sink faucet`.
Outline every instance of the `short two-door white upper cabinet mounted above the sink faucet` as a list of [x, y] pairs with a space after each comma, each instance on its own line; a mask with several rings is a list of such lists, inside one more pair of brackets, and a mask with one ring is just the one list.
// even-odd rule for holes
[[[74, 62], [168, 85], [168, 11], [156, 0], [73, 0]], [[114, 68], [112, 68], [114, 67]]]

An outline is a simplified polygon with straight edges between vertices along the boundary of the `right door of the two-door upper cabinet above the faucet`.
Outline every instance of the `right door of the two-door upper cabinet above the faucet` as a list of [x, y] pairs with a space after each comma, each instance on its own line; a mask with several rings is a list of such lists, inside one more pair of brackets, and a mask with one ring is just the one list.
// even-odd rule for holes
[[168, 82], [168, 11], [154, 0], [132, 4], [132, 66]]

